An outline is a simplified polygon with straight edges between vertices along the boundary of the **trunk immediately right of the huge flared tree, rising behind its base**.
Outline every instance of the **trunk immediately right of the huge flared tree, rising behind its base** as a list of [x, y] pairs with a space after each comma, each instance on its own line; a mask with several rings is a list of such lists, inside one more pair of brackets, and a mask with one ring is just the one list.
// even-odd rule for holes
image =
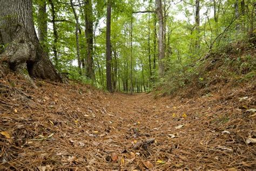
[[47, 41], [47, 19], [46, 1], [40, 1], [38, 6], [38, 39], [44, 52], [49, 56], [49, 47]]

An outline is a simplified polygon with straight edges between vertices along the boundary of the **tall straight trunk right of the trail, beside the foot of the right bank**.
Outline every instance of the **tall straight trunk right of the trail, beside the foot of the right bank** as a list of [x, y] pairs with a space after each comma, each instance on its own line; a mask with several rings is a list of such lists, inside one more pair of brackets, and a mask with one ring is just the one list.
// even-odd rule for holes
[[162, 1], [156, 0], [156, 13], [158, 16], [159, 22], [159, 32], [158, 32], [158, 74], [160, 78], [164, 77], [164, 56], [165, 56], [165, 48], [164, 48], [164, 17], [163, 17], [163, 7]]

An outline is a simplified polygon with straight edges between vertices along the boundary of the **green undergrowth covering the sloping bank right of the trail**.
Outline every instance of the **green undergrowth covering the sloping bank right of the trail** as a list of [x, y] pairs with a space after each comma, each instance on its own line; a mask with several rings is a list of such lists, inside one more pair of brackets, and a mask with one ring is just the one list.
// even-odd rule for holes
[[190, 96], [199, 89], [218, 83], [239, 85], [254, 81], [256, 76], [255, 36], [246, 42], [229, 44], [211, 52], [204, 60], [183, 66], [174, 65], [157, 84], [157, 92], [176, 95], [186, 90]]

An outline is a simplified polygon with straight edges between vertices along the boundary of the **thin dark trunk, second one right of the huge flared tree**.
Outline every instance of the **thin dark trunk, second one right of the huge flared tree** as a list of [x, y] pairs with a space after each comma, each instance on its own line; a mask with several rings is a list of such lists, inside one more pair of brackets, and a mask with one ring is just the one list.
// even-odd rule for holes
[[55, 6], [52, 0], [49, 0], [49, 3], [51, 5], [51, 15], [52, 15], [51, 22], [53, 27], [53, 45], [52, 45], [53, 60], [55, 61], [55, 65], [58, 67], [58, 54], [57, 54], [58, 33], [57, 33], [57, 26], [56, 26], [56, 12], [55, 12]]

